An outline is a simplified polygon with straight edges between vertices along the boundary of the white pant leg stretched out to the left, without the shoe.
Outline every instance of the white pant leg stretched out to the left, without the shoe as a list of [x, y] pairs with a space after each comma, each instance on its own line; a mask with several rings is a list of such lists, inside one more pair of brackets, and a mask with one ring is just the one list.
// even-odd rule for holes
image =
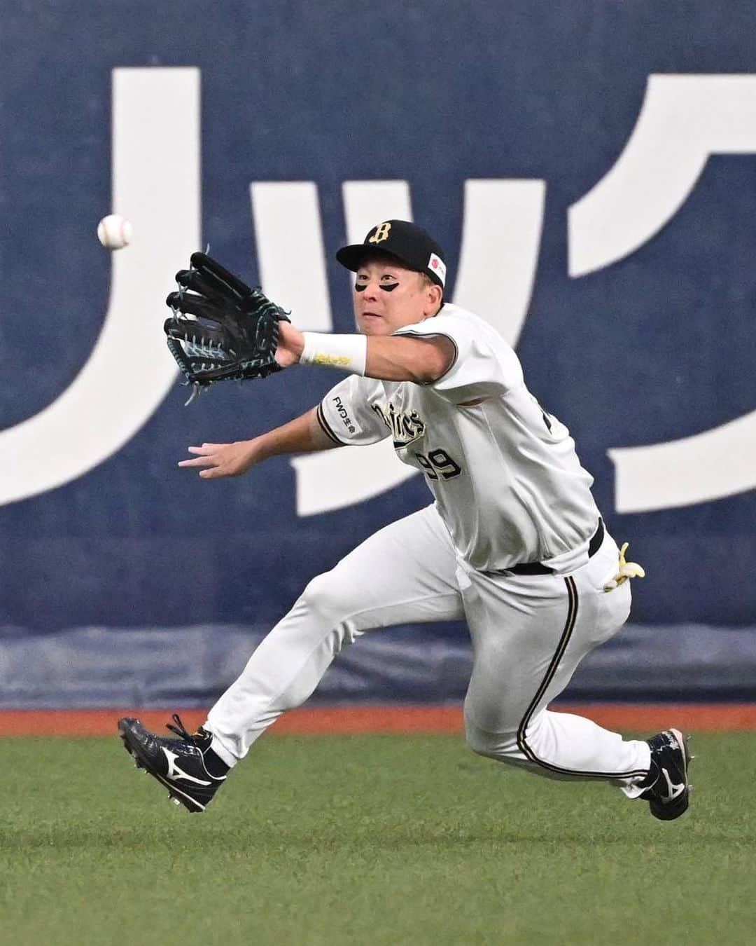
[[341, 648], [372, 628], [463, 617], [451, 539], [433, 506], [400, 519], [318, 575], [208, 714], [228, 764], [318, 686]]

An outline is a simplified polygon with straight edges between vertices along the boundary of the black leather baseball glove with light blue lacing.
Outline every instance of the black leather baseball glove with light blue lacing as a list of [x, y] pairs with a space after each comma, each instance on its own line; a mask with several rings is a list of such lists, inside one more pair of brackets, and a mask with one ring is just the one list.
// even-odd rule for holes
[[190, 404], [216, 381], [267, 377], [281, 367], [274, 356], [283, 308], [260, 289], [250, 289], [204, 253], [193, 253], [188, 270], [176, 273], [180, 289], [165, 303], [173, 310], [163, 329], [187, 384]]

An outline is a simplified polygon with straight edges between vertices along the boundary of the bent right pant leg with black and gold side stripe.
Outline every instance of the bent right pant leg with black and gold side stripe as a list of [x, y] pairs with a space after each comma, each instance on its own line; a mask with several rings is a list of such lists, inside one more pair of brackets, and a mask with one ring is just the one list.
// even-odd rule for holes
[[555, 779], [606, 779], [640, 795], [649, 746], [575, 714], [546, 710], [582, 657], [609, 639], [629, 613], [629, 583], [604, 591], [617, 569], [609, 536], [565, 577], [486, 576], [462, 588], [474, 662], [465, 701], [472, 748]]

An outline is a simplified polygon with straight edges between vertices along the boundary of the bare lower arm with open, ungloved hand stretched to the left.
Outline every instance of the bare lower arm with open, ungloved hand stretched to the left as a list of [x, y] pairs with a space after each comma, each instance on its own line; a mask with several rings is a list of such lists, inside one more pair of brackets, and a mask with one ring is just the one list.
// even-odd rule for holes
[[197, 466], [203, 480], [216, 480], [220, 477], [241, 476], [255, 464], [282, 453], [310, 453], [339, 447], [320, 428], [317, 410], [312, 408], [288, 424], [268, 430], [252, 440], [188, 447], [195, 456], [191, 460], [181, 460], [179, 465]]

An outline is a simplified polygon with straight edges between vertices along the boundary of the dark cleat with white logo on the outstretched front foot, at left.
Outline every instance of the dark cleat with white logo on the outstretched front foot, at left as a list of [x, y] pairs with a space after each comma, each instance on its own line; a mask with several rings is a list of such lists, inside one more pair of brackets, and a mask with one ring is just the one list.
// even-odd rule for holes
[[[225, 773], [211, 775], [206, 767], [205, 757], [212, 752], [213, 734], [202, 727], [189, 733], [177, 713], [173, 714], [173, 719], [176, 726], [166, 723], [165, 727], [175, 732], [178, 739], [156, 736], [138, 719], [129, 716], [118, 720], [118, 729], [137, 768], [161, 782], [175, 804], [183, 805], [190, 812], [203, 812], [226, 780]], [[220, 769], [228, 771], [228, 766], [217, 759], [215, 752], [212, 755], [219, 762], [218, 773]]]

